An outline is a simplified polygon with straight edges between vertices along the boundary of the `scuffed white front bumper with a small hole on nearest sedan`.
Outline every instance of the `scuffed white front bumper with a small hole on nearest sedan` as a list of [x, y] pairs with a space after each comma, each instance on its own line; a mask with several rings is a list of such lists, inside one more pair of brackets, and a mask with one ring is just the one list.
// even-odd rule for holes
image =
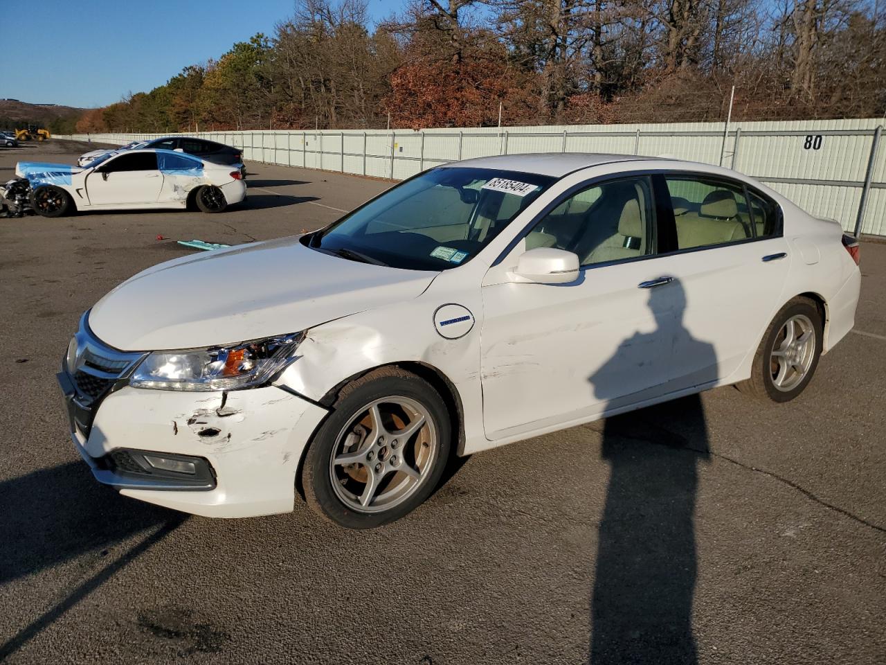
[[[227, 395], [122, 387], [85, 413], [66, 372], [58, 380], [71, 438], [97, 481], [207, 517], [291, 511], [301, 454], [327, 412], [270, 386]], [[214, 482], [176, 487], [168, 476], [126, 473], [105, 463], [120, 449], [206, 460]]]

